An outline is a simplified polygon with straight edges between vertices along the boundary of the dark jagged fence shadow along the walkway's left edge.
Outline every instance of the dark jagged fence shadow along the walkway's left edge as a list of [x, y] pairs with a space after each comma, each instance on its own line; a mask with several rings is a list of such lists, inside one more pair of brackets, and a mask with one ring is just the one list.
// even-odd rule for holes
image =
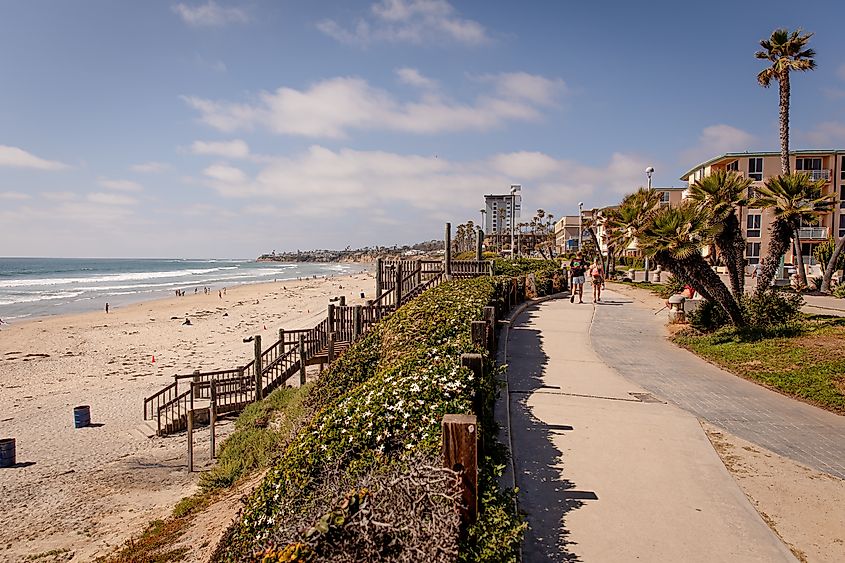
[[537, 330], [525, 328], [525, 323], [535, 315], [532, 310], [523, 314], [511, 331], [508, 343], [512, 453], [520, 508], [527, 513], [529, 526], [523, 544], [523, 561], [581, 561], [572, 551], [575, 544], [567, 539], [565, 517], [583, 506], [584, 500], [596, 500], [597, 497], [591, 491], [576, 491], [575, 484], [561, 476], [566, 460], [553, 438], [572, 431], [572, 426], [541, 421], [528, 406], [533, 392], [557, 388], [543, 382], [549, 357], [543, 351], [542, 335]]

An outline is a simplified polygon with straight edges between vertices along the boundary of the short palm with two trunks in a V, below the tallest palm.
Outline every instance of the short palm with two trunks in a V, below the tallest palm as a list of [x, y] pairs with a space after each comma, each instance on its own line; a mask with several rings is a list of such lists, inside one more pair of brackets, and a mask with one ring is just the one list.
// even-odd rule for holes
[[771, 240], [760, 275], [757, 277], [756, 293], [769, 288], [775, 277], [781, 256], [789, 249], [790, 241], [798, 248], [798, 272], [801, 282], [807, 285], [807, 272], [801, 257], [801, 239], [798, 229], [802, 222], [814, 223], [818, 216], [833, 206], [833, 196], [823, 193], [825, 180], [813, 181], [805, 173], [773, 176], [757, 188], [757, 197], [750, 203], [753, 207], [771, 209], [775, 220], [771, 227]]

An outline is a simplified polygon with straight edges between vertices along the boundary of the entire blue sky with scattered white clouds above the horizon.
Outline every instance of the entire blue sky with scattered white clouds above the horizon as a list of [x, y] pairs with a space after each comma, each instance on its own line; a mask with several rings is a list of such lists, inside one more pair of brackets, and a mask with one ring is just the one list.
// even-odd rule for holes
[[[643, 6], [642, 4], [647, 4]], [[792, 148], [845, 148], [841, 2], [6, 1], [0, 256], [402, 244], [777, 150], [758, 41], [815, 33]]]

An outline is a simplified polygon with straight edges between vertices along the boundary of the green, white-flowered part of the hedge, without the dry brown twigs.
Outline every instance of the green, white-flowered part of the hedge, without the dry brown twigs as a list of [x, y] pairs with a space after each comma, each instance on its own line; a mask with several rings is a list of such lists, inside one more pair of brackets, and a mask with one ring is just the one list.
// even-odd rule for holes
[[[431, 289], [374, 327], [334, 362], [308, 397], [315, 413], [311, 422], [250, 496], [242, 517], [218, 546], [215, 560], [261, 560], [268, 555], [270, 560], [300, 560], [284, 559], [292, 550], [297, 557], [311, 557], [313, 546], [309, 545], [320, 534], [280, 537], [280, 527], [289, 528], [291, 517], [289, 513], [280, 515], [283, 505], [305, 506], [318, 495], [323, 506], [331, 506], [341, 493], [335, 491], [333, 497], [324, 498], [327, 493], [321, 484], [338, 472], [359, 487], [357, 483], [376, 468], [401, 466], [408, 459], [422, 456], [436, 466], [443, 415], [471, 413], [480, 390], [485, 390], [488, 403], [494, 400], [489, 392], [493, 370], [486, 370], [490, 381], [476, 381], [472, 371], [460, 366], [460, 356], [483, 352], [472, 344], [470, 326], [482, 318], [499, 285], [495, 278], [476, 278]], [[488, 405], [484, 412], [490, 411]], [[492, 417], [483, 418], [490, 419], [481, 421], [482, 428], [489, 429]], [[489, 473], [501, 462], [482, 460], [481, 470]], [[489, 475], [488, 480], [495, 482]], [[491, 503], [489, 513], [501, 521], [478, 529], [505, 530], [503, 536], [508, 540], [499, 540], [502, 547], [497, 560], [513, 560], [523, 525], [511, 500], [494, 493], [482, 500]], [[494, 510], [496, 503], [502, 506]], [[299, 517], [303, 519], [301, 529], [313, 526], [305, 521], [305, 514]], [[490, 540], [478, 532], [469, 536], [474, 543]], [[401, 544], [398, 539], [396, 542]], [[401, 551], [401, 547], [393, 549]], [[464, 551], [478, 550], [468, 547]]]

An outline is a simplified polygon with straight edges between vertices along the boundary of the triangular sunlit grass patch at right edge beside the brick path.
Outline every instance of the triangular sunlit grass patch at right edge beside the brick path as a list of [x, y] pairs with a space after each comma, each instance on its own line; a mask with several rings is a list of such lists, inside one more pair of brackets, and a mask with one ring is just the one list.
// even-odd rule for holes
[[810, 317], [712, 334], [686, 330], [674, 341], [731, 373], [845, 414], [845, 319]]

